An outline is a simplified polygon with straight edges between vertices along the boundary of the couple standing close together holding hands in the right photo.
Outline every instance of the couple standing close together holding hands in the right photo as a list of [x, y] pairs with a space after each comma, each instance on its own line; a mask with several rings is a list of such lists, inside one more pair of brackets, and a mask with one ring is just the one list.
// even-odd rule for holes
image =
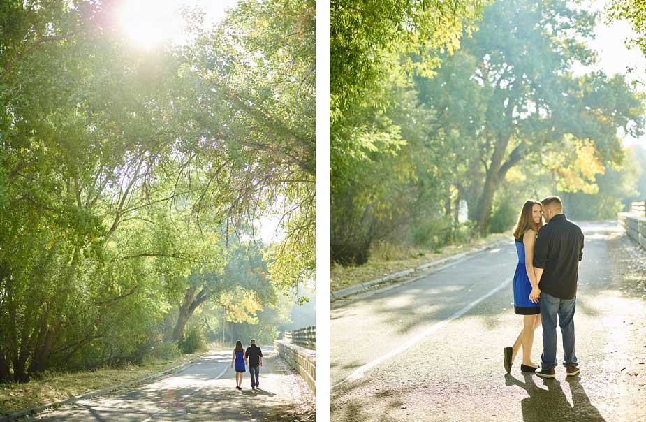
[[[545, 225], [543, 225], [545, 217]], [[514, 228], [518, 265], [513, 277], [514, 312], [523, 328], [512, 347], [504, 348], [507, 373], [522, 347], [521, 372], [554, 378], [557, 367], [557, 322], [563, 337], [567, 376], [579, 373], [574, 342], [574, 310], [583, 233], [563, 214], [558, 196], [524, 203]], [[558, 319], [558, 321], [557, 321]], [[531, 361], [534, 330], [543, 326], [541, 369]]]

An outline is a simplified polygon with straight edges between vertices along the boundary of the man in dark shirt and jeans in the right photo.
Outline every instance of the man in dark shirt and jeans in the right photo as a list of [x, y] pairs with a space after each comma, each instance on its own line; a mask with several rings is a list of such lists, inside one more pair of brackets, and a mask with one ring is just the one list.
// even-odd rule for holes
[[563, 335], [568, 376], [579, 373], [575, 355], [574, 310], [579, 261], [583, 258], [581, 228], [566, 219], [558, 196], [541, 200], [547, 224], [538, 231], [534, 247], [534, 268], [540, 289], [543, 354], [539, 377], [554, 378], [557, 363], [557, 317]]

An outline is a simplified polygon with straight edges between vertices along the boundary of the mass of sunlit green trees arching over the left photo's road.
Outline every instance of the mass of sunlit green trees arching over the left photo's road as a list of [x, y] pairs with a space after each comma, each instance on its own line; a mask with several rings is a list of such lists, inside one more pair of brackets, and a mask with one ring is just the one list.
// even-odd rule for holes
[[[193, 270], [223, 271], [209, 227], [226, 243], [284, 214], [281, 253], [314, 268], [312, 4], [243, 1], [240, 20], [143, 53], [114, 3], [3, 3], [0, 378], [131, 356]], [[277, 289], [302, 281], [290, 274]]]

